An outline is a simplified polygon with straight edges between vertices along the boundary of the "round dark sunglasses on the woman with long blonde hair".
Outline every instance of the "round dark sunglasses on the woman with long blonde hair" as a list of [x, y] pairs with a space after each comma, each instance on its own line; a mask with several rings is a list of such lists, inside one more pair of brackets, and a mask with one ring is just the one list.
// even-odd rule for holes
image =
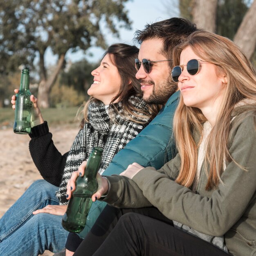
[[198, 73], [199, 67], [200, 67], [199, 62], [211, 63], [208, 61], [192, 59], [192, 60], [188, 61], [188, 63], [186, 63], [185, 65], [175, 66], [175, 67], [173, 67], [173, 70], [171, 72], [173, 81], [176, 83], [179, 81], [179, 77], [184, 69], [184, 66], [186, 66], [186, 70], [189, 74], [191, 74], [192, 76], [196, 75]]

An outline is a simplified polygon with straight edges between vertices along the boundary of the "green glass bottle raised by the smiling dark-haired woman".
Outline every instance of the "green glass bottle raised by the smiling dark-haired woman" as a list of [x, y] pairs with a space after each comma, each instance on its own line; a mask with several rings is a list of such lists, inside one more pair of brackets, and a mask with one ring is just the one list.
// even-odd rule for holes
[[20, 91], [16, 94], [15, 119], [13, 131], [18, 134], [28, 134], [31, 132], [30, 119], [32, 102], [29, 91], [29, 69], [21, 71]]

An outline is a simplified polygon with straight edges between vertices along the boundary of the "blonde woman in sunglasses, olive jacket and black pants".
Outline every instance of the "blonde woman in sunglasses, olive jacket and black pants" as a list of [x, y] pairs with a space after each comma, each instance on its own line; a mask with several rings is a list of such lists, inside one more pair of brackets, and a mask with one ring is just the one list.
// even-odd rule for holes
[[134, 163], [99, 176], [92, 200], [114, 207], [74, 256], [256, 255], [254, 68], [231, 40], [207, 31], [178, 45], [173, 62], [178, 154], [160, 170]]

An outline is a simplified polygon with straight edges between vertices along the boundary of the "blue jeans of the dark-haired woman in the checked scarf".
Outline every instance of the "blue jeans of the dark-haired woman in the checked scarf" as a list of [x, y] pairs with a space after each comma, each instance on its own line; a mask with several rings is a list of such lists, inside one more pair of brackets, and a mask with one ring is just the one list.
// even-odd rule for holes
[[32, 212], [48, 204], [58, 205], [57, 186], [37, 180], [0, 219], [1, 256], [38, 256], [45, 250], [60, 252], [68, 231], [61, 225], [62, 216]]

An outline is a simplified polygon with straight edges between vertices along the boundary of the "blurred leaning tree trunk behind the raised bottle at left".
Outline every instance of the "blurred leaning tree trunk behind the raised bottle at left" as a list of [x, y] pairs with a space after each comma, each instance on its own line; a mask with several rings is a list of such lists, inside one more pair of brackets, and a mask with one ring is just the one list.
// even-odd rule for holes
[[58, 59], [58, 64], [51, 74], [49, 79], [42, 79], [38, 86], [38, 105], [40, 108], [49, 108], [49, 93], [52, 90], [52, 86], [54, 85], [61, 68], [63, 67], [63, 63], [65, 60], [65, 54], [61, 54]]

